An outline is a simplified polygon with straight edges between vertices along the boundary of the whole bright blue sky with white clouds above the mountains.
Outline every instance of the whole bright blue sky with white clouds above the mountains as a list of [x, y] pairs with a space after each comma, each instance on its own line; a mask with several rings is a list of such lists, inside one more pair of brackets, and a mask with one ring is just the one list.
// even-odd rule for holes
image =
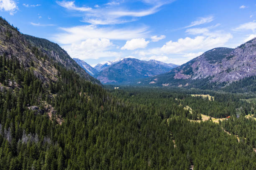
[[256, 37], [255, 0], [0, 0], [0, 15], [92, 66], [119, 57], [180, 65]]

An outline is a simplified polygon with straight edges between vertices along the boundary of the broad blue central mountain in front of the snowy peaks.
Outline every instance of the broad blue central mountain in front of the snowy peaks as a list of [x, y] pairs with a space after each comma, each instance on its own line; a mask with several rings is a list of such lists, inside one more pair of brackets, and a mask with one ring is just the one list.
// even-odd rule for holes
[[125, 58], [105, 68], [95, 77], [102, 83], [128, 84], [136, 79], [168, 72], [175, 66], [177, 65], [169, 65], [156, 60], [143, 61], [135, 58]]

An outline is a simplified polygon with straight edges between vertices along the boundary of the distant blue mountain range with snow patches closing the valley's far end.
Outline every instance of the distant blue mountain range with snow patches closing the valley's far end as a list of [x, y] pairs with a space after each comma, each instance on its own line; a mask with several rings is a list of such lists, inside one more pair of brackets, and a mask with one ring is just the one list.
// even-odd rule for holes
[[105, 64], [97, 64], [93, 68], [82, 60], [77, 58], [74, 58], [74, 60], [90, 75], [104, 84], [131, 84], [135, 80], [159, 75], [178, 66], [157, 60], [144, 61], [135, 58], [119, 58]]

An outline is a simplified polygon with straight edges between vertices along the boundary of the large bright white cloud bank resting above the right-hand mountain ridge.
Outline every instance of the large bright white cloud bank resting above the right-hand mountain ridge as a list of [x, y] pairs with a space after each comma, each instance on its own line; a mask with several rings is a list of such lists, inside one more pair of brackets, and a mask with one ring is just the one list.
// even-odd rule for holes
[[[216, 25], [215, 25], [216, 26]], [[194, 57], [202, 55], [202, 51], [207, 51], [215, 47], [224, 46], [233, 36], [230, 33], [221, 31], [210, 31], [210, 28], [188, 29], [186, 32], [196, 37], [180, 38], [177, 41], [168, 41], [162, 47], [148, 50], [137, 50], [134, 55], [146, 59], [162, 60], [163, 62], [183, 64]], [[217, 25], [218, 26], [218, 25]], [[168, 59], [164, 56], [167, 56]], [[165, 58], [165, 60], [164, 60]]]

